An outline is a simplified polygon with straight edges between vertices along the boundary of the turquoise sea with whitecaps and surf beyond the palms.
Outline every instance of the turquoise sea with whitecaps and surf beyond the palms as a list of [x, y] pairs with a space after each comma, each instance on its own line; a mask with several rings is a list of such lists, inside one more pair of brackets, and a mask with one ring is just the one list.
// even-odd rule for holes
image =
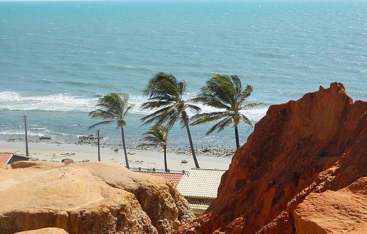
[[[94, 133], [96, 99], [121, 92], [136, 104], [125, 130], [136, 144], [141, 90], [160, 71], [187, 80], [187, 97], [215, 73], [240, 75], [250, 101], [264, 103], [244, 112], [253, 122], [333, 81], [366, 100], [367, 1], [0, 3], [0, 139], [22, 138], [27, 114], [31, 138], [74, 142]], [[192, 128], [197, 144], [234, 147], [233, 129], [205, 136], [208, 127]], [[114, 127], [101, 130], [118, 142]], [[187, 144], [178, 127], [170, 138]]]

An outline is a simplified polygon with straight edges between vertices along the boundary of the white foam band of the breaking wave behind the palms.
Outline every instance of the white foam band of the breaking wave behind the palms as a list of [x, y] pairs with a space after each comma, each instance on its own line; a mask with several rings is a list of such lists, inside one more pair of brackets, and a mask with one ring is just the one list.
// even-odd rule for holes
[[[195, 94], [188, 94], [185, 98], [194, 97]], [[57, 94], [48, 96], [24, 97], [16, 92], [0, 92], [0, 108], [8, 110], [48, 110], [48, 111], [82, 111], [89, 112], [95, 109], [97, 98], [75, 97], [67, 94]], [[130, 113], [150, 114], [151, 110], [141, 110], [141, 105], [146, 102], [143, 96], [130, 96], [130, 103], [134, 104]], [[221, 111], [202, 104], [196, 104], [202, 112]], [[253, 109], [242, 110], [250, 120], [260, 120], [268, 110], [269, 106], [259, 106]], [[189, 115], [194, 112], [189, 111]]]

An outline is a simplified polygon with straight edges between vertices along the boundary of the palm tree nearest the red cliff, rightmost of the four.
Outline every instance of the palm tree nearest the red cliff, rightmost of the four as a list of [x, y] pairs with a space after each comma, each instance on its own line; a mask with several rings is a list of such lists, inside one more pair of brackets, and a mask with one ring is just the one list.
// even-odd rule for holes
[[230, 124], [233, 124], [236, 146], [239, 148], [240, 140], [238, 125], [240, 122], [245, 122], [250, 126], [250, 129], [253, 127], [251, 121], [240, 111], [261, 104], [244, 103], [248, 97], [250, 97], [251, 93], [252, 86], [247, 85], [246, 89], [243, 89], [241, 80], [237, 75], [229, 76], [217, 74], [212, 76], [212, 78], [206, 82], [206, 85], [201, 88], [201, 91], [193, 101], [222, 109], [222, 111], [196, 114], [192, 118], [194, 122], [191, 125], [219, 121], [206, 132], [206, 135], [209, 135], [215, 130], [219, 132]]

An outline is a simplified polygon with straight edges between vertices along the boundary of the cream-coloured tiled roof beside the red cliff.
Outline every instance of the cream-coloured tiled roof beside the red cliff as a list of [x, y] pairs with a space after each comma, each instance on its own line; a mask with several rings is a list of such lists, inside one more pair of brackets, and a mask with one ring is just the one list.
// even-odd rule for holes
[[223, 173], [226, 170], [192, 168], [189, 176], [183, 177], [177, 189], [185, 197], [216, 198]]

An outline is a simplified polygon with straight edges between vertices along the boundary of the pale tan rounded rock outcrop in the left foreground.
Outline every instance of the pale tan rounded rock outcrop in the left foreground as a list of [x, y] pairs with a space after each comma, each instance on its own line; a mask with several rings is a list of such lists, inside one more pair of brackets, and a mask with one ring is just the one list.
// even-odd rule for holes
[[194, 218], [162, 178], [104, 162], [25, 161], [0, 167], [0, 233], [174, 233]]

